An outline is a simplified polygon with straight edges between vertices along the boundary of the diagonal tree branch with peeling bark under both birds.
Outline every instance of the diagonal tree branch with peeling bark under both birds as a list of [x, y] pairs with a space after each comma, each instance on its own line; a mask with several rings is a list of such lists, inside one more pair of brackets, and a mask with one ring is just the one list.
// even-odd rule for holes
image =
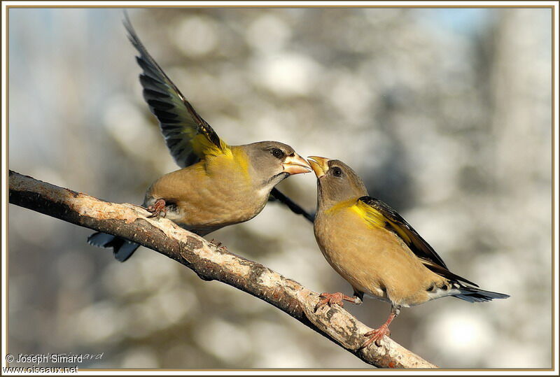
[[380, 368], [436, 368], [385, 337], [360, 350], [370, 328], [339, 306], [314, 313], [318, 294], [262, 264], [218, 248], [167, 219], [148, 219], [132, 204], [102, 201], [10, 171], [10, 203], [140, 243], [184, 264], [204, 280], [219, 280], [267, 301], [330, 341]]

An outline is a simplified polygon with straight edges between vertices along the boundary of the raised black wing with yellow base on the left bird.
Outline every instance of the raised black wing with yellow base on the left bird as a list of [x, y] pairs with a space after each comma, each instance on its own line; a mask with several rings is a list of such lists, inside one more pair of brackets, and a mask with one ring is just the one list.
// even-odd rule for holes
[[167, 148], [175, 162], [189, 166], [206, 155], [226, 152], [228, 145], [222, 141], [216, 131], [197, 114], [193, 106], [185, 99], [179, 89], [167, 77], [157, 62], [151, 57], [138, 38], [128, 15], [123, 21], [128, 31], [128, 38], [139, 52], [137, 62], [143, 73], [140, 83], [144, 87], [144, 99], [150, 111], [158, 118], [160, 129]]

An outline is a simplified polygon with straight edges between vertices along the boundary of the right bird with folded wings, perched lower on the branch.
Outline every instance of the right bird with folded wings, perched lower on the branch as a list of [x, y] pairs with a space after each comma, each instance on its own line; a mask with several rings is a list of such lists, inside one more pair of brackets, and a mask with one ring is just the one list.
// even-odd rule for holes
[[367, 333], [368, 346], [388, 335], [401, 307], [453, 296], [470, 302], [505, 299], [507, 294], [481, 290], [449, 269], [435, 250], [396, 211], [367, 194], [360, 177], [335, 159], [308, 157], [317, 176], [314, 232], [321, 252], [353, 287], [353, 297], [321, 294], [317, 308], [360, 304], [364, 294], [391, 303], [391, 315]]

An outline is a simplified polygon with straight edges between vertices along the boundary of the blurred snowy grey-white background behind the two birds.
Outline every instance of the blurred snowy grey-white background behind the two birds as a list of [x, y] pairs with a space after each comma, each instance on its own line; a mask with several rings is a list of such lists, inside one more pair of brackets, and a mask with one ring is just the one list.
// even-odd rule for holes
[[[9, 11], [9, 166], [140, 203], [176, 169], [118, 9]], [[228, 143], [342, 159], [442, 255], [507, 300], [405, 309], [392, 338], [442, 367], [551, 367], [549, 9], [131, 10], [151, 54]], [[314, 210], [311, 174], [281, 188]], [[9, 208], [9, 352], [79, 367], [368, 367], [248, 294], [141, 248]], [[290, 237], [286, 237], [290, 234]], [[351, 293], [278, 204], [211, 234], [318, 292]], [[372, 327], [389, 306], [351, 313]]]

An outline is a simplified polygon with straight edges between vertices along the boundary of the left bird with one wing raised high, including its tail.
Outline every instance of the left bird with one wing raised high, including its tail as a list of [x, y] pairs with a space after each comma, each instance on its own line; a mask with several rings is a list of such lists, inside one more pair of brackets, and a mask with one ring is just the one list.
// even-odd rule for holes
[[[311, 171], [307, 161], [290, 145], [277, 141], [225, 143], [151, 57], [127, 17], [124, 23], [139, 52], [144, 99], [158, 118], [169, 151], [182, 168], [165, 174], [148, 188], [144, 206], [153, 217], [166, 216], [204, 236], [255, 217], [267, 203], [274, 185], [290, 175]], [[276, 193], [293, 211], [304, 213]], [[95, 246], [113, 247], [120, 261], [139, 246], [99, 232], [88, 241]]]

